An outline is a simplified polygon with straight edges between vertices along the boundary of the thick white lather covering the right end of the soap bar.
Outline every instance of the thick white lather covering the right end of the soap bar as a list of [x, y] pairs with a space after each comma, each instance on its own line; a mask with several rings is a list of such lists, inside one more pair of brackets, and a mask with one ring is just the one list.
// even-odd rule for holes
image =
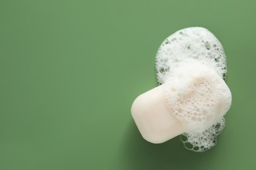
[[181, 63], [165, 82], [169, 110], [188, 131], [217, 123], [231, 105], [231, 93], [215, 71], [196, 61]]

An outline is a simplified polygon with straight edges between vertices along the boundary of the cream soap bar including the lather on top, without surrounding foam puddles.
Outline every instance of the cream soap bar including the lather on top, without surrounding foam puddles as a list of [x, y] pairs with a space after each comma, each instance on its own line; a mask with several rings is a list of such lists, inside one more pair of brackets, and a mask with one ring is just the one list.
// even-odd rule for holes
[[163, 143], [184, 132], [202, 133], [217, 124], [231, 105], [231, 93], [212, 69], [184, 62], [161, 86], [135, 99], [131, 113], [150, 143]]

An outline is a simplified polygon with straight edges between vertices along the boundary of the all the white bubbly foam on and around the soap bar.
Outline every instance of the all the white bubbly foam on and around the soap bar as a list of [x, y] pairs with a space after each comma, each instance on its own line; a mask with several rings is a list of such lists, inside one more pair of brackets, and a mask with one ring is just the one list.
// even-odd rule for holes
[[185, 148], [203, 152], [217, 144], [232, 98], [226, 75], [223, 46], [203, 27], [181, 29], [161, 44], [156, 77], [171, 114], [186, 126]]

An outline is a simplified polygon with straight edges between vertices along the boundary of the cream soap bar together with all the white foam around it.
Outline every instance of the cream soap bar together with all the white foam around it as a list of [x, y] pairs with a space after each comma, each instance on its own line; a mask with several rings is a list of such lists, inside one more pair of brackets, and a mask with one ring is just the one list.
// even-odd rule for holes
[[131, 107], [142, 137], [163, 143], [182, 134], [185, 148], [196, 152], [215, 146], [232, 101], [226, 75], [223, 46], [209, 30], [188, 27], [167, 37], [156, 54], [160, 86]]

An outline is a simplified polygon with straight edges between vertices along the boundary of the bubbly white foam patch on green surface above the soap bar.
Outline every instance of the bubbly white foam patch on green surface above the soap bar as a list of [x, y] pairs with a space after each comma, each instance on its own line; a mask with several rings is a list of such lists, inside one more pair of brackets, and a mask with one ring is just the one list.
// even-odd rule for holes
[[156, 55], [156, 77], [163, 84], [185, 59], [196, 59], [226, 79], [226, 56], [221, 42], [203, 27], [188, 27], [169, 36]]

